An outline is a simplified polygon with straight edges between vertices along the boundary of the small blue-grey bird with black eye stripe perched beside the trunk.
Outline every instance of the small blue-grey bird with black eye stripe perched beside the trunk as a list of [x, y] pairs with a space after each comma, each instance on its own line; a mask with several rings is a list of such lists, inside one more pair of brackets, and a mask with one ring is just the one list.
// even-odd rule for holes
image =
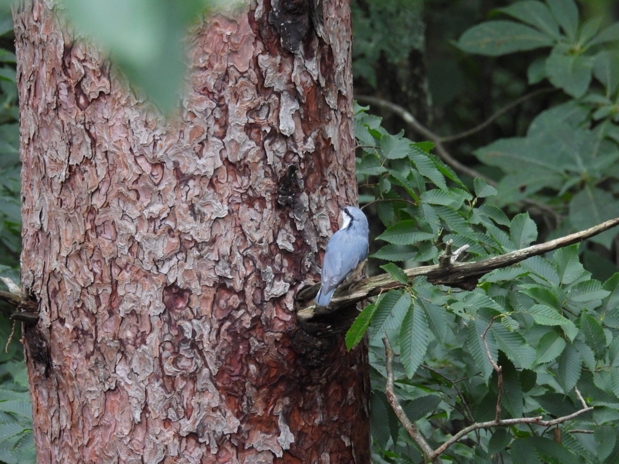
[[317, 306], [328, 306], [335, 289], [350, 285], [368, 259], [368, 218], [354, 206], [340, 206], [340, 210], [342, 228], [333, 234], [324, 252], [321, 287], [314, 299]]

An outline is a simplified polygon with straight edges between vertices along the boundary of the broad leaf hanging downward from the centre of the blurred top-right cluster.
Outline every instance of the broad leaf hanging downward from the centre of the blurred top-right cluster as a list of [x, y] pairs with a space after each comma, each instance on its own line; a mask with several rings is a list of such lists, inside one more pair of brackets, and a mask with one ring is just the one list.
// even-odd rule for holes
[[564, 48], [556, 46], [546, 60], [546, 74], [552, 85], [580, 98], [589, 88], [593, 64], [591, 56], [566, 54]]

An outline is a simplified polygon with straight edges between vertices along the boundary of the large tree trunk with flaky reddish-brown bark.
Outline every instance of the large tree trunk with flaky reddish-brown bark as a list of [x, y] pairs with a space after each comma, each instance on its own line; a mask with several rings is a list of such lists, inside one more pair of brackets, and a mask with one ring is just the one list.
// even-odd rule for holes
[[357, 199], [348, 2], [194, 30], [170, 121], [48, 3], [15, 12], [39, 462], [370, 462], [365, 348], [293, 311]]

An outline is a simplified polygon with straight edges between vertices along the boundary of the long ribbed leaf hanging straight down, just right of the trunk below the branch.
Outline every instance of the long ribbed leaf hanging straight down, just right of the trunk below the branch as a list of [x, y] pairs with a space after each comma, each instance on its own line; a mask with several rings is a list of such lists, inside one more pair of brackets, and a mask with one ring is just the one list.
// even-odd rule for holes
[[430, 327], [428, 327], [425, 312], [421, 307], [413, 305], [404, 317], [398, 338], [400, 361], [409, 378], [415, 375], [428, 349], [430, 340], [428, 332], [430, 332]]

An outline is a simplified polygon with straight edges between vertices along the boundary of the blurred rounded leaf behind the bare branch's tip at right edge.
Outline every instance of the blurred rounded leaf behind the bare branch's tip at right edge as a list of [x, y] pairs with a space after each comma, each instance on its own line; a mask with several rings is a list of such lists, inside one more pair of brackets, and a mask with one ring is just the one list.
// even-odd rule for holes
[[[569, 221], [576, 230], [598, 225], [609, 219], [619, 217], [619, 202], [610, 192], [588, 184], [569, 202]], [[589, 238], [610, 249], [617, 236], [617, 229], [610, 229]]]

